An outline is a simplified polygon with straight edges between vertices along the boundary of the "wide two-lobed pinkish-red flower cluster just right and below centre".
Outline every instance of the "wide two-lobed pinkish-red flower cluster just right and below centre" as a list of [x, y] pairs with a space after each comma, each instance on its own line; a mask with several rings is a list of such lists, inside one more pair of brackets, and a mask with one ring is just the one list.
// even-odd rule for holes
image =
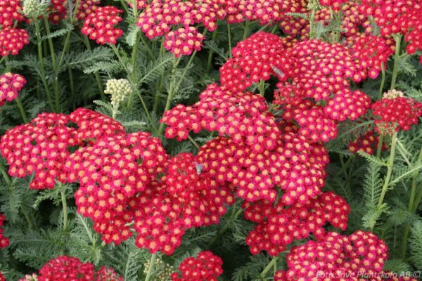
[[324, 167], [328, 164], [325, 148], [309, 145], [303, 136], [286, 133], [279, 136], [274, 150], [255, 152], [231, 138], [215, 138], [198, 153], [204, 170], [217, 181], [237, 187], [237, 195], [247, 201], [276, 199], [276, 186], [285, 192], [286, 204], [307, 202], [319, 195], [324, 186]]

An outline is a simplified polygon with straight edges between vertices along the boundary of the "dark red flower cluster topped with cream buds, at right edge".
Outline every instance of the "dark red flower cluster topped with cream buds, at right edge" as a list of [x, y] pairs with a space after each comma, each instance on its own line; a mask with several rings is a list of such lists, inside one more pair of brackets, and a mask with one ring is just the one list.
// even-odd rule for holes
[[372, 104], [372, 111], [376, 117], [376, 131], [392, 134], [395, 131], [410, 130], [412, 125], [418, 124], [422, 116], [422, 103], [404, 98], [402, 92], [392, 90]]

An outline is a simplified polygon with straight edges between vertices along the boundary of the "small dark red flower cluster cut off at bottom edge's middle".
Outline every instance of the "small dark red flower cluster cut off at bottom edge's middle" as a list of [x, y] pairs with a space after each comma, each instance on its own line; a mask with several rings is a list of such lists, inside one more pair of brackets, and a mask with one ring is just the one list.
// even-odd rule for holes
[[201, 251], [196, 258], [181, 262], [180, 273], [172, 273], [172, 281], [217, 281], [222, 275], [223, 261], [210, 251]]

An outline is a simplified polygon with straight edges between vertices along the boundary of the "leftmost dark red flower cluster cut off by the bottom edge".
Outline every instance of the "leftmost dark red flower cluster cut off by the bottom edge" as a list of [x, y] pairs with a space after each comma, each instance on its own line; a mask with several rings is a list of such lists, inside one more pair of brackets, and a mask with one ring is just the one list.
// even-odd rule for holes
[[[112, 268], [103, 266], [96, 271], [94, 264], [82, 263], [70, 256], [58, 256], [52, 259], [44, 264], [35, 276], [38, 281], [123, 281], [123, 277], [117, 275]], [[25, 280], [27, 279], [20, 279], [20, 281]]]

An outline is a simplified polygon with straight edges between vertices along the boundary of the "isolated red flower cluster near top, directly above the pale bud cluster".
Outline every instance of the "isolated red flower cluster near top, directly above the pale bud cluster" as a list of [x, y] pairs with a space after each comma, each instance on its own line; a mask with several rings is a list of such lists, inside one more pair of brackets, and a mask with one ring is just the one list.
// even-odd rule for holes
[[123, 34], [120, 28], [115, 27], [122, 21], [119, 13], [122, 11], [115, 6], [98, 7], [94, 13], [87, 15], [81, 32], [98, 44], [116, 44]]

